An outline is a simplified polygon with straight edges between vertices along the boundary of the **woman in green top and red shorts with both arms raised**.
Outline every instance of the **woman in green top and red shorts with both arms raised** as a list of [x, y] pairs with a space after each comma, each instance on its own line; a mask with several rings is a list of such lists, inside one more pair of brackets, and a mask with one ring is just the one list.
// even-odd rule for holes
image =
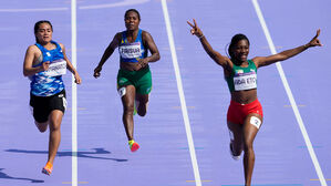
[[232, 157], [238, 159], [244, 151], [245, 185], [249, 186], [255, 164], [252, 143], [263, 121], [262, 107], [257, 99], [257, 69], [277, 61], [287, 60], [308, 48], [321, 46], [322, 44], [318, 40], [320, 30], [304, 45], [270, 56], [256, 56], [251, 60], [247, 59], [249, 53], [248, 38], [244, 34], [236, 34], [231, 39], [228, 49], [229, 59], [211, 48], [196, 21], [193, 21], [194, 23], [187, 21], [192, 27], [190, 33], [199, 38], [207, 54], [224, 69], [231, 94], [231, 102], [227, 113], [227, 124], [230, 132], [230, 152]]

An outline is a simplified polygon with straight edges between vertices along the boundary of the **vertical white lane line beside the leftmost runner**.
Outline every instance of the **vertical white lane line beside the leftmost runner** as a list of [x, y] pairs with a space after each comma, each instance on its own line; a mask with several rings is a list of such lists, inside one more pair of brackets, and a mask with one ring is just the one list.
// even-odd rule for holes
[[[71, 62], [76, 69], [77, 53], [76, 53], [76, 0], [71, 0]], [[71, 81], [72, 87], [72, 186], [77, 186], [77, 87], [74, 83], [74, 75]]]

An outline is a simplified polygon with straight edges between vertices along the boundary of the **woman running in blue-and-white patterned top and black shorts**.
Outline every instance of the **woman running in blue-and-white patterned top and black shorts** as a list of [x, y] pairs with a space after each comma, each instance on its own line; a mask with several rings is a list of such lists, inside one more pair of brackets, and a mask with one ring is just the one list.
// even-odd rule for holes
[[52, 41], [53, 27], [42, 20], [34, 24], [35, 44], [25, 53], [23, 74], [31, 80], [30, 105], [33, 108], [34, 123], [40, 132], [50, 126], [49, 157], [42, 173], [51, 175], [53, 162], [61, 141], [61, 122], [66, 107], [62, 75], [66, 69], [81, 83], [77, 71], [65, 55], [64, 45]]

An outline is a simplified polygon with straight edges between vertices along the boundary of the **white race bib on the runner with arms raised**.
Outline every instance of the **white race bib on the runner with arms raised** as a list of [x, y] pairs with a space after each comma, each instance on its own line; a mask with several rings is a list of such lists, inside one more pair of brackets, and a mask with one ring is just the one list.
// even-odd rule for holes
[[257, 74], [254, 72], [242, 73], [234, 78], [235, 91], [257, 89]]

